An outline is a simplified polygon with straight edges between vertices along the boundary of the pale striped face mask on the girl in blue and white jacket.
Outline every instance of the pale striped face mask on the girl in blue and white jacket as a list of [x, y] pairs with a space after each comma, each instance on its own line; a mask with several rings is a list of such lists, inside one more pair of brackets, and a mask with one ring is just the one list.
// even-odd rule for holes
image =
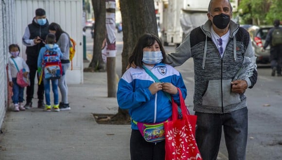
[[144, 51], [142, 62], [145, 64], [159, 64], [162, 61], [161, 51]]

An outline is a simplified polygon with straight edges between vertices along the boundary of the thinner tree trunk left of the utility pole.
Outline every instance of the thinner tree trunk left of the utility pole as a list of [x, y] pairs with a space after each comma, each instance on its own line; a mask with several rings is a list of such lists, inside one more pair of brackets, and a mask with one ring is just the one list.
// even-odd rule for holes
[[95, 17], [93, 56], [88, 68], [84, 68], [84, 71], [105, 72], [106, 64], [102, 59], [102, 44], [106, 38], [106, 2], [105, 0], [92, 0], [92, 5]]

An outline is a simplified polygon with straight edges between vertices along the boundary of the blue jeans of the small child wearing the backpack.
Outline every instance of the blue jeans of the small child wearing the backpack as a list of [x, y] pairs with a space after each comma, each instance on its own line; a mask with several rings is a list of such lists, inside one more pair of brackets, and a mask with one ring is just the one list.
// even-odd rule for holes
[[58, 81], [59, 80], [46, 80], [46, 79], [44, 79], [43, 82], [44, 82], [46, 104], [51, 105], [50, 81], [52, 81], [52, 90], [53, 90], [53, 95], [54, 95], [54, 105], [57, 105], [57, 104], [59, 104], [59, 93], [58, 93]]

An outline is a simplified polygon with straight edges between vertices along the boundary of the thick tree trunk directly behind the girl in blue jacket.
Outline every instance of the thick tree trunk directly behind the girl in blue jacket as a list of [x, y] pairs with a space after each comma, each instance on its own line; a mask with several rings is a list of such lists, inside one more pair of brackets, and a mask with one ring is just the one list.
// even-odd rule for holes
[[[158, 36], [158, 27], [154, 0], [120, 0], [120, 7], [123, 19], [123, 74], [138, 38], [144, 33], [152, 33]], [[112, 120], [122, 119], [130, 121], [130, 116], [127, 110], [119, 108], [118, 113]]]

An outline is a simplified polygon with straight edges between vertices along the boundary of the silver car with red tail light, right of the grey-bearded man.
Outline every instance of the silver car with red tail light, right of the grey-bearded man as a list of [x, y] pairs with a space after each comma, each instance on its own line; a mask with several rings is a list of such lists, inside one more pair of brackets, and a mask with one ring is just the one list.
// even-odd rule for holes
[[268, 45], [264, 51], [265, 38], [267, 32], [272, 28], [272, 26], [251, 26], [248, 28], [250, 33], [252, 46], [255, 51], [255, 56], [257, 57], [257, 64], [269, 64], [270, 46]]

